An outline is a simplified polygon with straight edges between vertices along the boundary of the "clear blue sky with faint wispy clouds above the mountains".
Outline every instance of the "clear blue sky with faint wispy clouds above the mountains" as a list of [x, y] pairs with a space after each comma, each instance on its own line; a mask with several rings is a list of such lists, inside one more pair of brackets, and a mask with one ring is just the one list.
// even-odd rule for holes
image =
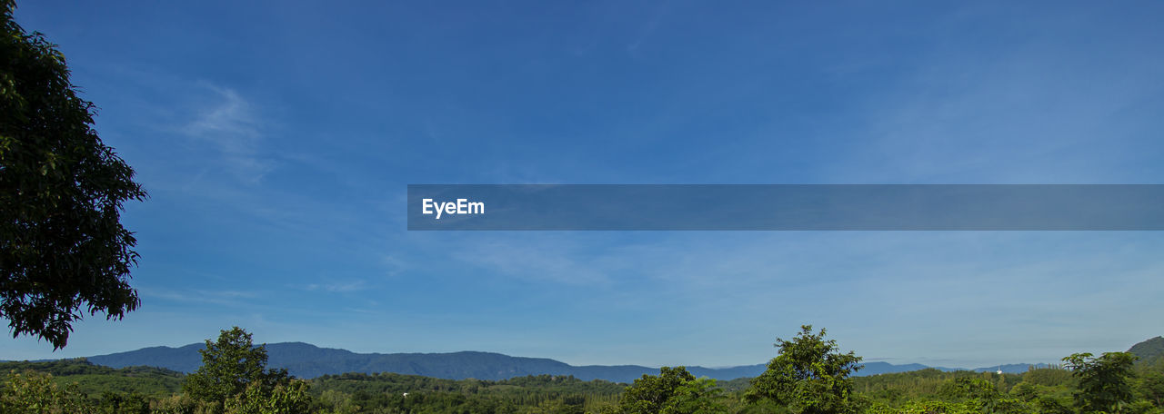
[[150, 192], [142, 308], [260, 342], [985, 366], [1164, 334], [1152, 231], [406, 231], [407, 184], [1161, 184], [1164, 5], [23, 1]]

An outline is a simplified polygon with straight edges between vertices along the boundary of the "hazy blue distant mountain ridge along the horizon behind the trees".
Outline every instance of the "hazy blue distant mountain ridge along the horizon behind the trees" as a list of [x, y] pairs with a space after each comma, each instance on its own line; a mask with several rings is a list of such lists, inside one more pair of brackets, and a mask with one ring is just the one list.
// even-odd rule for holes
[[[198, 350], [203, 344], [179, 348], [151, 347], [135, 351], [92, 356], [87, 359], [98, 365], [125, 367], [135, 365], [157, 366], [179, 372], [193, 372], [201, 365]], [[574, 376], [583, 380], [604, 379], [630, 383], [643, 374], [658, 374], [659, 369], [641, 365], [569, 365], [549, 358], [513, 357], [495, 352], [461, 351], [446, 354], [357, 354], [343, 349], [319, 348], [303, 342], [267, 344], [268, 366], [286, 369], [299, 378], [315, 378], [324, 374], [347, 372], [395, 372], [446, 379], [501, 380], [513, 377], [555, 374]], [[696, 377], [736, 379], [755, 377], [767, 364], [730, 367], [688, 366]], [[1028, 364], [1001, 365], [1005, 372], [1027, 371]], [[868, 362], [858, 376], [906, 372], [927, 369], [922, 364], [895, 365], [885, 362]], [[943, 371], [960, 369], [938, 367]], [[999, 366], [979, 367], [973, 371], [995, 371]]]

